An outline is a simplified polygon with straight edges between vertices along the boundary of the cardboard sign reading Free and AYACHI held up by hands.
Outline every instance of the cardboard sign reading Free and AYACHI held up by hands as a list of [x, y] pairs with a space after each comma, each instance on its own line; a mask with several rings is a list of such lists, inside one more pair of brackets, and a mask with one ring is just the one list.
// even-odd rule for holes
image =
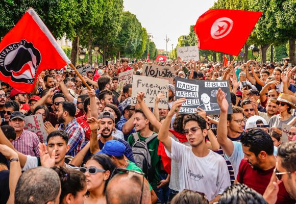
[[168, 109], [168, 81], [164, 79], [158, 79], [153, 77], [145, 77], [141, 75], [133, 76], [133, 90], [132, 90], [132, 106], [135, 106], [137, 103], [137, 93], [145, 93], [145, 104], [154, 108], [155, 98], [157, 94], [163, 92], [165, 98], [159, 101], [160, 109]]

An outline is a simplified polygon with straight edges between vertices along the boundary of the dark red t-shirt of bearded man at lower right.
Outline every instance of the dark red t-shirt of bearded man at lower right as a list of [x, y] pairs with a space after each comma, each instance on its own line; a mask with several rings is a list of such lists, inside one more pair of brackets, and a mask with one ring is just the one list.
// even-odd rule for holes
[[[273, 175], [273, 172], [274, 168], [265, 171], [254, 170], [247, 161], [241, 160], [236, 179], [239, 183], [245, 184], [249, 188], [252, 188], [263, 195], [266, 187], [269, 184], [270, 178]], [[279, 187], [280, 190], [276, 203], [294, 204], [295, 200], [292, 200], [292, 198], [289, 196], [288, 192], [285, 189], [284, 183], [281, 183]]]

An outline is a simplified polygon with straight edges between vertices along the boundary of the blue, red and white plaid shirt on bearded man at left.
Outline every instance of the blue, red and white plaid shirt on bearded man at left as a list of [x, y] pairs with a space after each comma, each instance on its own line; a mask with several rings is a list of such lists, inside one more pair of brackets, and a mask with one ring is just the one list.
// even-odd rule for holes
[[81, 150], [81, 145], [85, 141], [85, 133], [83, 131], [83, 128], [76, 121], [76, 118], [74, 118], [66, 126], [64, 124], [61, 124], [59, 126], [59, 130], [63, 130], [69, 134], [68, 145], [70, 146], [70, 149], [67, 152], [67, 155], [75, 157], [77, 153]]

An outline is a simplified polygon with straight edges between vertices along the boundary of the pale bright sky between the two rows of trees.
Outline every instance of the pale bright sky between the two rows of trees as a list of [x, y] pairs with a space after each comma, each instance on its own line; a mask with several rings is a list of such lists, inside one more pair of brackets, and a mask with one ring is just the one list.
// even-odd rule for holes
[[170, 39], [167, 50], [174, 48], [181, 35], [188, 35], [190, 25], [214, 5], [214, 0], [124, 0], [124, 10], [135, 14], [153, 35], [157, 49], [166, 49], [165, 35]]

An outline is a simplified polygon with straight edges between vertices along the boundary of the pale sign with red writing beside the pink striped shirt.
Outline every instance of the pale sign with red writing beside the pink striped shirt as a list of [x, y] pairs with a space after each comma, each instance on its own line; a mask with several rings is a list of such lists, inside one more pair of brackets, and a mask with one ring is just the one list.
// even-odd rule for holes
[[24, 117], [23, 129], [35, 133], [39, 137], [41, 143], [46, 141], [47, 132], [44, 129], [44, 123], [41, 114]]

